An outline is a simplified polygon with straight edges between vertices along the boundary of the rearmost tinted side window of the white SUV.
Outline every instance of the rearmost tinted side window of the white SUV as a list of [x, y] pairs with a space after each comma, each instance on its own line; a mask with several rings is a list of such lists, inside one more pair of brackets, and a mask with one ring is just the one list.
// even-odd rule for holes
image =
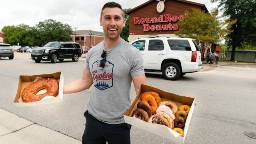
[[187, 50], [191, 51], [188, 40], [167, 40], [171, 50]]

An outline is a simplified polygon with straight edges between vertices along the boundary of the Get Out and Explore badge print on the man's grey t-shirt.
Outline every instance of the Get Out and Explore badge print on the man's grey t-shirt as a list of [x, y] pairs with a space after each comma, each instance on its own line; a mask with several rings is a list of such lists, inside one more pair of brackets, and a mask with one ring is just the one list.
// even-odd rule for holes
[[93, 84], [99, 90], [105, 90], [113, 86], [114, 64], [106, 60], [105, 67], [102, 68], [100, 67], [100, 61], [97, 60], [92, 64]]

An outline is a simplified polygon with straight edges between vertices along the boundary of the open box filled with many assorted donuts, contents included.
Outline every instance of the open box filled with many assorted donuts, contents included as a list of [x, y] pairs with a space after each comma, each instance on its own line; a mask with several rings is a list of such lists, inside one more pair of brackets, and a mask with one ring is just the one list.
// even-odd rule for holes
[[194, 98], [142, 84], [134, 102], [124, 113], [124, 120], [128, 124], [183, 144], [193, 110]]

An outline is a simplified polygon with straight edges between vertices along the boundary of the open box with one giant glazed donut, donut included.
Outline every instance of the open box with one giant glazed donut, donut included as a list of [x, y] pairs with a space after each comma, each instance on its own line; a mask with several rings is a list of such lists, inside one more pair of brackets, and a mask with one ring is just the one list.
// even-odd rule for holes
[[20, 76], [14, 104], [24, 107], [62, 102], [63, 86], [62, 72]]

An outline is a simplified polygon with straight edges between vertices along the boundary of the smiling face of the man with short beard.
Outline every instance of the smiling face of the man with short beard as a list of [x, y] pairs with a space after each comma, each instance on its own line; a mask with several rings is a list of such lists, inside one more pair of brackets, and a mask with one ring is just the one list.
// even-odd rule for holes
[[118, 38], [125, 25], [120, 8], [105, 8], [100, 18], [100, 26], [103, 27], [105, 37], [110, 40]]

